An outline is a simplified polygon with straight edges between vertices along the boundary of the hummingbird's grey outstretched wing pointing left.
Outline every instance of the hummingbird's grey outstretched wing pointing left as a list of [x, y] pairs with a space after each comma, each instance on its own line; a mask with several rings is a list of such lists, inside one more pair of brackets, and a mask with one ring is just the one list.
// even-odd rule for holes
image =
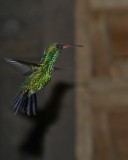
[[32, 73], [34, 67], [37, 67], [38, 65], [35, 63], [29, 63], [24, 61], [19, 61], [11, 58], [5, 58], [4, 61], [7, 64], [11, 64], [14, 69], [22, 73], [23, 75], [29, 75]]

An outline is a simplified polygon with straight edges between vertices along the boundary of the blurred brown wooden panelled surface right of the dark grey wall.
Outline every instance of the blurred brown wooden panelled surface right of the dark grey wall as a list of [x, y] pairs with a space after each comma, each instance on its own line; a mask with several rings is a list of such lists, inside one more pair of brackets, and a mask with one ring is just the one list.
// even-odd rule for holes
[[128, 1], [77, 0], [75, 14], [76, 159], [127, 160]]

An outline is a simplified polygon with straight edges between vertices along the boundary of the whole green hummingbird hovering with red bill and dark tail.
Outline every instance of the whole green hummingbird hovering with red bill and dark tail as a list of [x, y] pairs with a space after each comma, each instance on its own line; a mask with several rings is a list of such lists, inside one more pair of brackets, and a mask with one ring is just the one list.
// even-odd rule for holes
[[51, 80], [55, 61], [65, 48], [82, 47], [81, 45], [68, 45], [51, 43], [44, 50], [43, 56], [38, 64], [5, 58], [5, 62], [11, 64], [23, 75], [25, 81], [21, 84], [19, 94], [14, 98], [12, 106], [15, 114], [26, 113], [36, 115], [37, 93], [39, 93]]

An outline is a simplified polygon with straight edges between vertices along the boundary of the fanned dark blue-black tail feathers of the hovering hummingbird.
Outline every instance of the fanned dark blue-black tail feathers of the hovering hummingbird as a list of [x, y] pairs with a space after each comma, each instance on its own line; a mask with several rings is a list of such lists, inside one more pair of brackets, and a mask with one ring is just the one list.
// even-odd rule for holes
[[22, 112], [27, 115], [36, 115], [37, 112], [37, 99], [36, 94], [28, 96], [26, 94], [19, 94], [13, 101], [15, 114]]

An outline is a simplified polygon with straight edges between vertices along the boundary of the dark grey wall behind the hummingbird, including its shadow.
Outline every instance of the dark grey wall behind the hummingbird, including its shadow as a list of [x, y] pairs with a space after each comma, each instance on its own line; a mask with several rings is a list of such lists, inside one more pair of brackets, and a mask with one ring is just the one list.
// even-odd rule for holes
[[[0, 57], [39, 62], [51, 42], [73, 43], [73, 0], [0, 0]], [[24, 77], [1, 63], [0, 159], [74, 159], [74, 50], [57, 60], [51, 83], [38, 95], [35, 117], [14, 116]]]

